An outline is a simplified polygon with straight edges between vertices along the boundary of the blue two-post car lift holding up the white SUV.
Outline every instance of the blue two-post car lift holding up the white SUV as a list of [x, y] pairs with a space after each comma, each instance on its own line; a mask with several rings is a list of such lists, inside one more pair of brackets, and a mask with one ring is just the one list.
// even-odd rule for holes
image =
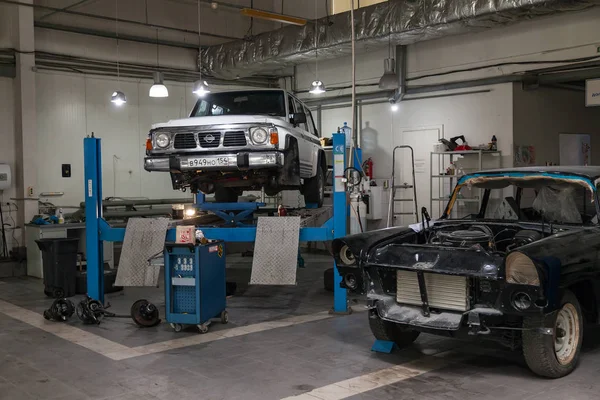
[[[87, 252], [87, 290], [88, 295], [104, 303], [104, 260], [103, 242], [122, 242], [125, 228], [112, 228], [102, 218], [102, 152], [99, 138], [83, 140], [84, 176], [85, 176], [85, 226]], [[344, 183], [346, 165], [346, 146], [344, 134], [333, 134], [333, 217], [321, 227], [300, 228], [301, 242], [329, 241], [346, 235], [346, 217], [348, 203]], [[246, 225], [243, 220], [260, 207], [261, 203], [205, 203], [204, 195], [196, 196], [197, 207], [211, 211], [229, 222], [228, 226], [201, 226], [208, 239], [220, 239], [225, 242], [254, 242], [256, 226]], [[227, 210], [227, 211], [224, 211]], [[234, 214], [232, 211], [239, 211]], [[166, 241], [175, 241], [175, 229], [167, 231]], [[332, 312], [348, 313], [346, 289], [340, 288], [342, 278], [334, 261], [334, 301]]]

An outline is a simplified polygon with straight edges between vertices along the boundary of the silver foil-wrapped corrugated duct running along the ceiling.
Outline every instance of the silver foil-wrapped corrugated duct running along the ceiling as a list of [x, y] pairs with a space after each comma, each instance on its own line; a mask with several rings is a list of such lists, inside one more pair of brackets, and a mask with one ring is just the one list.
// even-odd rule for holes
[[[357, 40], [369, 48], [411, 44], [480, 31], [520, 20], [579, 11], [600, 0], [390, 0], [355, 12]], [[319, 59], [350, 54], [350, 13], [318, 21]], [[203, 74], [235, 79], [275, 73], [315, 57], [315, 25], [265, 32], [252, 40], [210, 46], [202, 52]]]

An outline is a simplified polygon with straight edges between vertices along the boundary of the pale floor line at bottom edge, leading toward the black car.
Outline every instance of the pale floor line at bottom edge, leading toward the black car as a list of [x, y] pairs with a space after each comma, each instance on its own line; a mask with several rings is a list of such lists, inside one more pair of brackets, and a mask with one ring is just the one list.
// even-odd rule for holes
[[[452, 356], [453, 360], [449, 360], [449, 356]], [[458, 357], [458, 361], [456, 357]], [[454, 364], [463, 357], [464, 355], [455, 350], [443, 351], [404, 364], [322, 386], [310, 392], [285, 397], [281, 400], [343, 400]]]

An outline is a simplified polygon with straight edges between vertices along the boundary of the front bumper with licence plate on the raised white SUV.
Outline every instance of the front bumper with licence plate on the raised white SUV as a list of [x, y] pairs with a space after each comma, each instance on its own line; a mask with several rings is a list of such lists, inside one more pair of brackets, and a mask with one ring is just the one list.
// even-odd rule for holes
[[278, 151], [151, 156], [144, 159], [146, 171], [238, 171], [279, 168], [284, 155]]

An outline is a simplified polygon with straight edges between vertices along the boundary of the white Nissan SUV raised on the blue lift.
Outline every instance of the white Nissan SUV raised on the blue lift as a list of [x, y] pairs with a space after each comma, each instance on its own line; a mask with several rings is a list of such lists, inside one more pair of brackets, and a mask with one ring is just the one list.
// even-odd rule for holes
[[299, 189], [323, 204], [327, 163], [310, 110], [281, 89], [210, 93], [189, 118], [155, 124], [144, 168], [171, 173], [173, 189], [235, 202], [244, 190], [269, 196]]

